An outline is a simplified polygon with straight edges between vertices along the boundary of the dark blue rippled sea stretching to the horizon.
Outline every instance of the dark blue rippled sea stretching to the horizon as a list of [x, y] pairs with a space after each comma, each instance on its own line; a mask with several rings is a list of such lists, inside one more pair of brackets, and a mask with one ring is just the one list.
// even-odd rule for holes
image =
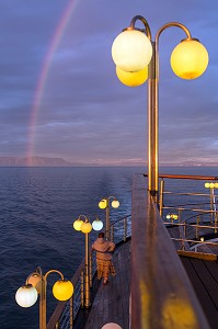
[[[38, 302], [20, 307], [18, 288], [37, 266], [44, 274], [55, 269], [71, 279], [84, 257], [84, 236], [74, 231], [73, 222], [85, 215], [105, 224], [105, 211], [97, 205], [108, 196], [121, 203], [111, 208], [112, 222], [129, 215], [133, 175], [145, 172], [146, 167], [0, 168], [0, 329], [38, 328]], [[160, 172], [218, 177], [218, 167], [164, 167]], [[194, 190], [193, 182], [184, 184]], [[92, 231], [91, 242], [95, 238]], [[58, 279], [51, 273], [47, 280], [48, 318], [57, 305], [51, 288]]]

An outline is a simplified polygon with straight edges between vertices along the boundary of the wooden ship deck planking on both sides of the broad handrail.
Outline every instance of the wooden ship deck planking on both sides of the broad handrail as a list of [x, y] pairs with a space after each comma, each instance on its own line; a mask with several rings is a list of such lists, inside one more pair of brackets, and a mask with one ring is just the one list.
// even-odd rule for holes
[[[172, 228], [169, 230], [172, 232]], [[175, 230], [172, 235], [175, 237]], [[218, 321], [217, 258], [215, 257], [213, 260], [196, 259], [188, 257], [187, 253], [186, 256], [180, 256], [180, 259], [210, 328], [216, 329]], [[73, 328], [101, 329], [108, 322], [115, 322], [122, 329], [129, 328], [130, 241], [117, 247], [113, 260], [116, 275], [110, 279], [108, 285], [104, 285], [103, 282], [95, 282], [94, 288], [96, 288], [96, 293], [92, 307], [90, 310], [81, 310]]]

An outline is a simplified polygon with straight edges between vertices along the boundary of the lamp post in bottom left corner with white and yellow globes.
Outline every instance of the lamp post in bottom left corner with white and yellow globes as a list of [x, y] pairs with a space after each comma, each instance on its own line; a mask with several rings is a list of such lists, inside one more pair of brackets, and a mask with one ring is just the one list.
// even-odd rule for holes
[[58, 300], [69, 299], [73, 294], [72, 283], [65, 280], [62, 273], [57, 270], [49, 270], [43, 275], [43, 271], [39, 266], [27, 276], [25, 285], [21, 286], [15, 294], [16, 303], [21, 307], [33, 306], [39, 295], [39, 329], [46, 329], [46, 286], [47, 277], [50, 273], [58, 273], [61, 277], [53, 286], [55, 298]]

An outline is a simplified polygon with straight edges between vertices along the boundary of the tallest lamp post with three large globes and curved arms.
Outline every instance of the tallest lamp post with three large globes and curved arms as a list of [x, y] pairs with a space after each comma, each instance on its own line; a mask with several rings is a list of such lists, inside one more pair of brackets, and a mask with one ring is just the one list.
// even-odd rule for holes
[[[145, 29], [136, 29], [137, 21]], [[133, 18], [130, 26], [125, 29], [114, 41], [112, 57], [116, 64], [117, 76], [127, 86], [139, 86], [145, 79], [138, 75], [148, 66], [148, 190], [158, 202], [159, 191], [159, 37], [168, 27], [180, 27], [186, 34], [171, 54], [171, 67], [182, 79], [195, 79], [203, 75], [208, 65], [208, 53], [198, 39], [193, 38], [186, 26], [177, 22], [164, 24], [151, 39], [148, 22], [141, 15]], [[126, 78], [127, 75], [127, 78]], [[145, 72], [145, 75], [147, 75]], [[124, 77], [123, 77], [124, 76]], [[131, 81], [131, 83], [129, 82]], [[138, 81], [140, 80], [140, 81]], [[133, 82], [135, 81], [135, 82]]]

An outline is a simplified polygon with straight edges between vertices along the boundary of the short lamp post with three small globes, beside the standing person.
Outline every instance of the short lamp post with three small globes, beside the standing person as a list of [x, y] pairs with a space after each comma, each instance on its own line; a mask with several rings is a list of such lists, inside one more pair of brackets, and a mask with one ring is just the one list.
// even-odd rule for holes
[[[82, 220], [82, 218], [84, 220]], [[85, 236], [85, 256], [84, 256], [84, 307], [91, 306], [90, 297], [90, 257], [89, 257], [89, 234], [92, 228], [94, 230], [101, 230], [103, 223], [96, 218], [92, 224], [85, 215], [80, 215], [77, 220], [72, 224], [74, 230], [81, 231]]]

